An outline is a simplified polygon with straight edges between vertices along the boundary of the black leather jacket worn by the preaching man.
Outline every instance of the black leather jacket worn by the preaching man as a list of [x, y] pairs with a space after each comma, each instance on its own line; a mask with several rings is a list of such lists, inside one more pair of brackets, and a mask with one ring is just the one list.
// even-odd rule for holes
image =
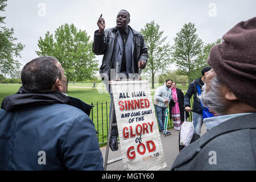
[[[144, 43], [143, 36], [133, 30], [130, 26], [128, 26], [134, 35], [134, 56], [135, 59], [133, 59], [136, 63], [136, 67], [134, 68], [134, 73], [138, 73], [138, 61], [143, 60], [147, 63], [148, 59], [148, 53], [147, 53], [147, 46]], [[96, 55], [104, 55], [102, 59], [102, 64], [100, 67], [100, 75], [102, 77], [102, 73], [106, 73], [110, 80], [110, 69], [114, 68], [114, 61], [113, 61], [113, 55], [114, 55], [114, 48], [115, 44], [117, 43], [117, 33], [118, 29], [117, 27], [106, 29], [104, 33], [98, 34], [98, 30], [94, 32], [94, 42], [93, 42], [93, 48], [92, 51]], [[103, 79], [102, 79], [103, 80]]]

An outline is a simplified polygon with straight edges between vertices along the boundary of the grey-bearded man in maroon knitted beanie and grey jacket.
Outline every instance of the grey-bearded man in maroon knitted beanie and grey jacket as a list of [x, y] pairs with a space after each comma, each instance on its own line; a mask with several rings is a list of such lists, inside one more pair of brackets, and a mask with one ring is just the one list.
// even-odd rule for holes
[[200, 99], [218, 116], [183, 148], [172, 170], [256, 170], [256, 17], [229, 30], [210, 50]]

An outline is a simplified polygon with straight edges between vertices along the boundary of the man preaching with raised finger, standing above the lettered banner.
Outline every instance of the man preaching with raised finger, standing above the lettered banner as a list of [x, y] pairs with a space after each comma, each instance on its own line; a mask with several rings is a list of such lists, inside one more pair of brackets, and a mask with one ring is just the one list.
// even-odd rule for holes
[[[92, 48], [96, 55], [104, 55], [100, 75], [110, 93], [111, 103], [113, 102], [113, 95], [109, 81], [118, 78], [122, 80], [127, 78], [137, 79], [139, 68], [143, 69], [146, 66], [148, 58], [143, 36], [128, 26], [130, 23], [129, 12], [126, 10], [119, 11], [116, 23], [116, 27], [105, 30], [105, 20], [102, 18], [102, 14], [100, 15], [97, 21], [99, 29], [94, 32]], [[111, 110], [112, 108], [110, 108], [109, 117]], [[113, 117], [113, 123], [116, 123], [115, 113]], [[114, 126], [110, 138], [112, 151], [118, 150], [117, 137], [117, 126]]]

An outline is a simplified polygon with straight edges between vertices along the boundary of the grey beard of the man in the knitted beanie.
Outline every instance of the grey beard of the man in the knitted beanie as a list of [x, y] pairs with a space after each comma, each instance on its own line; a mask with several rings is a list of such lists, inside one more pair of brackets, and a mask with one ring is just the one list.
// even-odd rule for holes
[[223, 82], [221, 82], [220, 78], [214, 76], [210, 81], [210, 89], [208, 92], [205, 90], [207, 86], [205, 83], [202, 87], [201, 96], [197, 95], [204, 106], [212, 109], [214, 113], [220, 115], [224, 114], [226, 111], [226, 105], [222, 101], [222, 94], [220, 92], [221, 85], [223, 85]]

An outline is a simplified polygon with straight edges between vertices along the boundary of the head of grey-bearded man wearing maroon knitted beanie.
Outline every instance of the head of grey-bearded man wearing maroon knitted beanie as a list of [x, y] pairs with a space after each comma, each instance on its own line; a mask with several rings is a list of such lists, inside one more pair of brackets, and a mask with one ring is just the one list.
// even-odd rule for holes
[[256, 112], [256, 17], [240, 22], [210, 50], [201, 101], [217, 114]]

